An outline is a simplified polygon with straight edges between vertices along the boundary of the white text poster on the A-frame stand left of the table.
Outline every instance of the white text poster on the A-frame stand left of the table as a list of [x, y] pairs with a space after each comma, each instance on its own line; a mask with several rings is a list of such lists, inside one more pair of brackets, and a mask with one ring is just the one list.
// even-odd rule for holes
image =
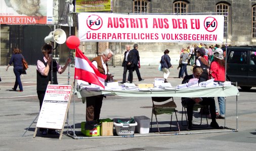
[[71, 85], [48, 85], [36, 127], [62, 129], [71, 98]]

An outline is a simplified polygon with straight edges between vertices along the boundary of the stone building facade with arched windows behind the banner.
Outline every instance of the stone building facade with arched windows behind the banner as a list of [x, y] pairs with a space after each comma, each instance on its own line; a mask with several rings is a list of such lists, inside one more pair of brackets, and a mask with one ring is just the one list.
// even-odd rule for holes
[[[111, 12], [105, 12], [111, 13]], [[212, 13], [207, 15], [225, 15], [224, 21], [224, 43], [232, 46], [239, 45], [255, 45], [256, 44], [256, 0], [233, 0], [233, 1], [219, 1], [219, 0], [193, 0], [193, 1], [171, 1], [171, 0], [115, 0], [112, 1], [112, 13], [147, 13], [147, 14], [177, 14], [177, 15], [203, 15], [206, 13]], [[79, 27], [77, 24], [77, 14], [73, 15], [73, 26], [71, 28], [72, 35], [77, 33]], [[6, 65], [8, 62], [9, 49], [13, 46], [10, 43], [10, 39], [14, 38], [17, 33], [10, 33], [13, 30], [12, 26], [19, 25], [1, 25], [1, 65]], [[35, 25], [36, 26], [36, 25]], [[45, 25], [47, 26], [47, 25]], [[20, 33], [24, 33], [24, 26], [20, 25], [15, 27]], [[27, 28], [34, 28], [29, 26]], [[35, 31], [45, 31], [45, 33], [38, 33], [35, 37], [29, 37], [31, 39], [42, 38], [49, 34], [54, 28], [48, 26], [36, 27]], [[69, 28], [61, 26], [69, 35]], [[41, 36], [38, 36], [40, 35]], [[9, 35], [9, 37], [5, 37]], [[19, 39], [24, 39], [25, 35], [19, 34]], [[31, 35], [31, 34], [29, 34]], [[14, 37], [13, 37], [14, 36]], [[17, 36], [16, 36], [17, 37]], [[33, 40], [35, 46], [40, 46], [44, 41]], [[25, 40], [28, 41], [29, 40]], [[20, 46], [28, 45], [24, 43], [24, 40], [17, 40]], [[172, 64], [178, 64], [179, 54], [183, 47], [192, 45], [192, 43], [143, 43], [139, 44], [139, 53], [141, 57], [141, 65], [156, 65], [159, 63], [163, 51], [168, 49], [170, 51], [169, 56]], [[89, 58], [95, 57], [100, 54], [104, 49], [110, 48], [113, 50], [115, 56], [110, 61], [110, 65], [121, 65], [123, 60], [123, 54], [125, 52], [125, 45], [133, 46], [134, 43], [126, 42], [81, 42], [80, 49]], [[212, 45], [212, 43], [206, 43], [206, 45]], [[31, 46], [31, 45], [29, 45]], [[34, 46], [34, 47], [35, 47]], [[25, 49], [27, 49], [25, 47]], [[31, 48], [34, 49], [34, 48]], [[37, 48], [38, 49], [38, 48]], [[37, 50], [36, 51], [39, 51]], [[56, 53], [60, 57], [60, 62], [63, 63], [68, 56], [69, 50], [62, 44], [60, 51]], [[8, 50], [8, 51], [7, 51]], [[23, 50], [26, 55], [30, 55], [29, 50]], [[8, 53], [7, 53], [8, 52]], [[33, 55], [30, 55], [31, 58]], [[35, 64], [36, 62], [31, 59], [29, 64]]]

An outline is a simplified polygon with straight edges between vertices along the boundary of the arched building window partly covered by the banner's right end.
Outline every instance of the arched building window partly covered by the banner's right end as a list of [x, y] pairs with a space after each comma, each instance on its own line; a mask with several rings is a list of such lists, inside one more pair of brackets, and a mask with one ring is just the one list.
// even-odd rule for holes
[[227, 4], [221, 3], [216, 5], [216, 12], [219, 13], [219, 15], [225, 15], [224, 16], [224, 37], [226, 38], [228, 36], [228, 14], [229, 14], [229, 6]]

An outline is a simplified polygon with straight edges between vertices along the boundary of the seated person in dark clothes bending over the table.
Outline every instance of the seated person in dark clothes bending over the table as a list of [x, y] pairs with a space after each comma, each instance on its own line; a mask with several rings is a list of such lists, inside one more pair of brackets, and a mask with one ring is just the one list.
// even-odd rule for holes
[[[206, 81], [205, 79], [201, 78], [201, 74], [203, 69], [200, 66], [195, 66], [193, 68], [193, 74], [185, 76], [182, 81], [182, 84], [186, 84], [189, 82], [190, 79], [198, 79], [198, 83]], [[210, 109], [210, 116], [211, 116], [211, 123], [210, 126], [216, 129], [222, 129], [219, 124], [216, 122], [216, 111], [215, 111], [215, 101], [214, 98], [182, 98], [182, 105], [187, 106], [187, 115], [188, 115], [188, 127], [187, 130], [192, 129], [192, 119], [193, 119], [193, 106], [196, 103], [201, 105], [209, 105]]]

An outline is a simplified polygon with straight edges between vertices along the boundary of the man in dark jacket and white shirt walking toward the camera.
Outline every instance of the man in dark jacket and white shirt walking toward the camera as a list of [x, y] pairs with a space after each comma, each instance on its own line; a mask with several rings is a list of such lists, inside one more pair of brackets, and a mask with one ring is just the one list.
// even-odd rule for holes
[[126, 51], [124, 52], [124, 57], [122, 61], [123, 66], [123, 74], [122, 74], [122, 82], [121, 84], [125, 83], [126, 80], [126, 72], [129, 70], [129, 77], [130, 77], [130, 83], [133, 83], [133, 69], [134, 69], [134, 54], [131, 52], [131, 46], [126, 46]]

